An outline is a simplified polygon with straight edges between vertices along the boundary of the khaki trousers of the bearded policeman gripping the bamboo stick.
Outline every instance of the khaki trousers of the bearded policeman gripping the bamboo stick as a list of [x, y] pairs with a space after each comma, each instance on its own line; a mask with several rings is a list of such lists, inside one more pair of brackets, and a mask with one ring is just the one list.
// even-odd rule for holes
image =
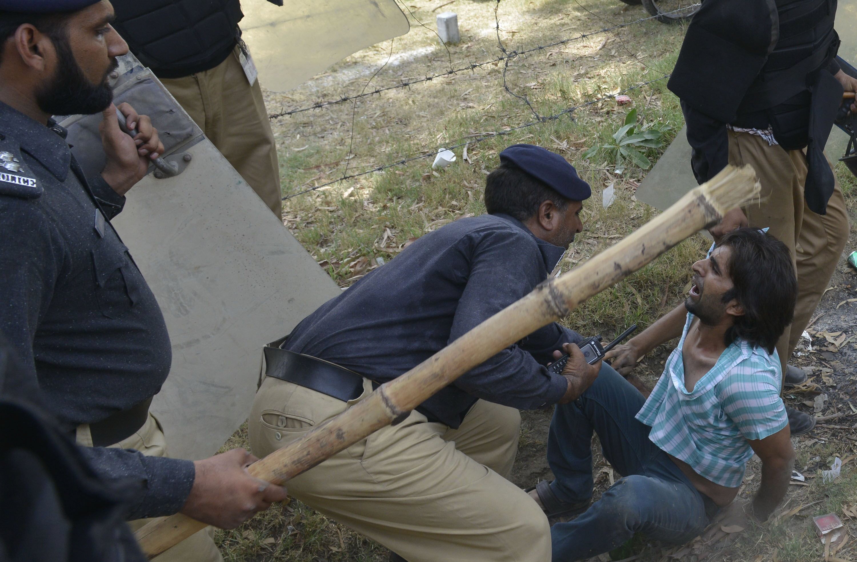
[[[77, 428], [77, 444], [83, 447], [93, 447], [93, 437], [87, 424]], [[134, 435], [111, 445], [120, 449], [135, 449], [147, 457], [166, 457], [166, 440], [164, 430], [158, 420], [149, 413], [143, 427]], [[151, 519], [136, 519], [129, 521], [131, 530], [140, 529]], [[207, 527], [195, 535], [189, 536], [175, 547], [153, 558], [154, 562], [223, 562], [218, 547], [214, 544], [214, 528]]]

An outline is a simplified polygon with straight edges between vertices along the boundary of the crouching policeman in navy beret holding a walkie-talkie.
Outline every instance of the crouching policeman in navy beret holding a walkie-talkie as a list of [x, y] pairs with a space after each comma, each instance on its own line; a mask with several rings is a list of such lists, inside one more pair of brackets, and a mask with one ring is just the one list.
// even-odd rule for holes
[[[300, 438], [530, 293], [581, 231], [589, 197], [559, 155], [502, 151], [485, 186], [488, 215], [425, 234], [267, 349], [249, 417], [255, 454]], [[579, 340], [556, 323], [537, 330], [402, 423], [297, 476], [291, 492], [410, 562], [549, 560], [547, 518], [506, 477], [518, 408], [570, 401], [596, 376], [577, 346], [566, 376], [544, 366]]]

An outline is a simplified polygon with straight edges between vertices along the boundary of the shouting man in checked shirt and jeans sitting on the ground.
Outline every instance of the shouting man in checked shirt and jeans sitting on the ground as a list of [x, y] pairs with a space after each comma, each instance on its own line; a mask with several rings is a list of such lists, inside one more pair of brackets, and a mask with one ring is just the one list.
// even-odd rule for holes
[[[554, 412], [548, 464], [556, 479], [533, 495], [549, 510], [583, 512], [551, 529], [554, 560], [606, 553], [638, 531], [690, 541], [734, 500], [754, 452], [762, 483], [744, 511], [764, 521], [788, 489], [794, 451], [775, 349], [797, 294], [788, 248], [740, 228], [693, 273], [684, 305], [608, 352], [627, 374], [645, 352], [681, 336], [649, 398], [603, 367], [579, 399]], [[587, 509], [593, 430], [623, 477]]]

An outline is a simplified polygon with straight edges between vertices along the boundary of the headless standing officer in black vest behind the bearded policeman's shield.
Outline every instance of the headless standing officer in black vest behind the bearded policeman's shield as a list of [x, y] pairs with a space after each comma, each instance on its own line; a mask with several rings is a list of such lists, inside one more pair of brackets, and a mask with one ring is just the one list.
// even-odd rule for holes
[[112, 1], [113, 27], [131, 52], [279, 218], [277, 145], [253, 60], [241, 40], [239, 0]]

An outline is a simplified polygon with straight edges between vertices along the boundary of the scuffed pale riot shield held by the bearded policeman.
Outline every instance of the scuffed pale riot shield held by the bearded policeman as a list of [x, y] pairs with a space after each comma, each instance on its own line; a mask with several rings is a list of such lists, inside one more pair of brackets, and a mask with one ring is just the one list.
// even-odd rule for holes
[[[113, 220], [170, 332], [171, 372], [152, 411], [171, 456], [205, 458], [247, 418], [262, 347], [340, 290], [159, 80], [130, 54], [120, 62], [116, 103], [152, 117], [178, 170], [150, 167]], [[62, 122], [87, 175], [105, 162], [100, 120]]]

